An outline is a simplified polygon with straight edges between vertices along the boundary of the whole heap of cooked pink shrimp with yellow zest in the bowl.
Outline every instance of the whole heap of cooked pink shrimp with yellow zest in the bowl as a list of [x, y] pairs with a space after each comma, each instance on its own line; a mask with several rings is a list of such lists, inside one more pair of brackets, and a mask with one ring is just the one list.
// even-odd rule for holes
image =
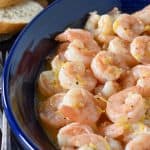
[[92, 12], [56, 36], [40, 73], [40, 122], [61, 150], [150, 150], [150, 5]]

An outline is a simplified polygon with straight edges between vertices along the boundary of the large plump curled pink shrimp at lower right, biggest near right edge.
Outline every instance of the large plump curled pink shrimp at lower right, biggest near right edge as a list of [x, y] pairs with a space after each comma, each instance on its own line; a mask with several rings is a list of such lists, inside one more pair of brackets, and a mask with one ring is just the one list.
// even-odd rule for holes
[[131, 87], [112, 95], [107, 102], [106, 113], [112, 122], [125, 118], [136, 122], [145, 115], [145, 99], [138, 87]]

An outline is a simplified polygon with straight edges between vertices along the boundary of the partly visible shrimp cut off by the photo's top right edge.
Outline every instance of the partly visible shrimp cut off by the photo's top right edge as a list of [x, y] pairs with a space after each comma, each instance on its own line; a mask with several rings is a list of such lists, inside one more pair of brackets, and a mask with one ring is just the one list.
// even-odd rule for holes
[[150, 25], [150, 5], [140, 11], [135, 12], [133, 16], [139, 18], [145, 25]]

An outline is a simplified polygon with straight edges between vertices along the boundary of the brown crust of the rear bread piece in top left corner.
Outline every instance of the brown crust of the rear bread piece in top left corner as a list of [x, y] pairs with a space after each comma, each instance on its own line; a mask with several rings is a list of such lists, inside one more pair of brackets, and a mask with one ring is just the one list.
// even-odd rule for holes
[[16, 5], [24, 0], [0, 0], [0, 8], [9, 7], [11, 5]]

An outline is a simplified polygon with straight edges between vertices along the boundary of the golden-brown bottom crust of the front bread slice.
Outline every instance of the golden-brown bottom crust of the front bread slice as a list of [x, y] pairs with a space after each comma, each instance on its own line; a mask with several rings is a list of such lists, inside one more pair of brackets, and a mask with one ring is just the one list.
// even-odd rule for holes
[[25, 23], [0, 22], [0, 33], [1, 34], [17, 33], [25, 25], [26, 25]]

